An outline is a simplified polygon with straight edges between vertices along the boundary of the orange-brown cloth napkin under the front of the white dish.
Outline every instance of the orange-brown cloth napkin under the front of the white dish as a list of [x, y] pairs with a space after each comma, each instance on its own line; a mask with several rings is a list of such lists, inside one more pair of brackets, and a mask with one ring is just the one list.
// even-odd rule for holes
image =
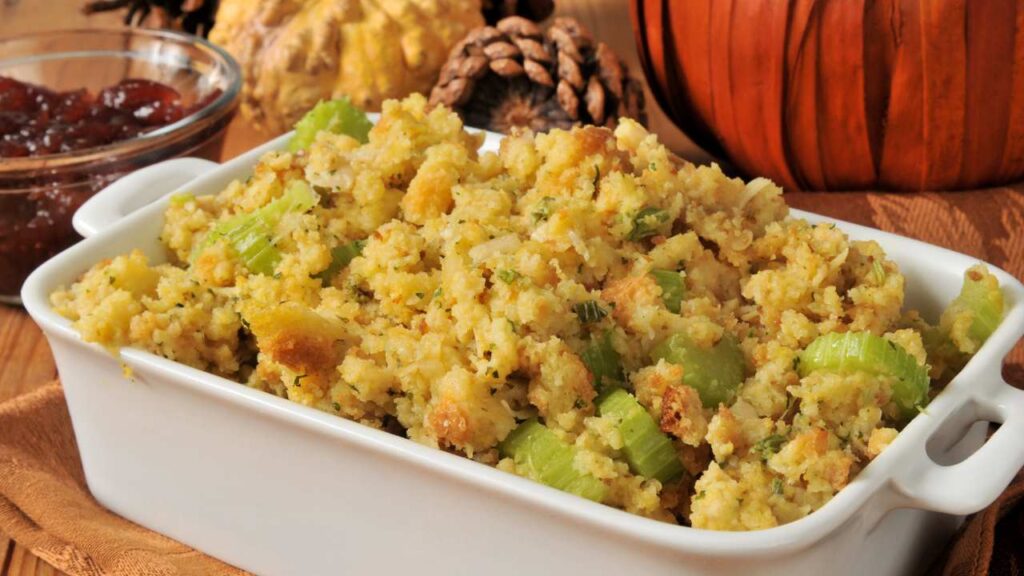
[[[245, 574], [103, 508], [85, 486], [59, 383], [0, 405], [0, 532], [72, 576]], [[1021, 574], [1024, 475], [971, 518], [935, 574]]]

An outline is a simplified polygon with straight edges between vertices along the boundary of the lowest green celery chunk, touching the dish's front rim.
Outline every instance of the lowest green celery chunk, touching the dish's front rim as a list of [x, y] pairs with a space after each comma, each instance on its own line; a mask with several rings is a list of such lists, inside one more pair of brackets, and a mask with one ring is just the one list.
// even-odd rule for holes
[[499, 446], [502, 456], [531, 480], [588, 500], [600, 502], [607, 493], [603, 482], [572, 466], [577, 449], [549, 430], [537, 418], [519, 424]]

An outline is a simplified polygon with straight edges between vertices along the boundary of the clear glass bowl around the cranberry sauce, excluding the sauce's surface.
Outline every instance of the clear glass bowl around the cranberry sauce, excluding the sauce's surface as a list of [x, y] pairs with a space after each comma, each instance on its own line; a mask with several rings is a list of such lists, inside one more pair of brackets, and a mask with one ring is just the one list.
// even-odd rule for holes
[[0, 39], [0, 76], [54, 91], [98, 93], [128, 78], [176, 89], [190, 115], [131, 139], [86, 150], [0, 158], [0, 301], [16, 303], [41, 262], [80, 240], [72, 215], [90, 196], [143, 166], [180, 156], [219, 160], [242, 73], [224, 50], [188, 34], [65, 30]]

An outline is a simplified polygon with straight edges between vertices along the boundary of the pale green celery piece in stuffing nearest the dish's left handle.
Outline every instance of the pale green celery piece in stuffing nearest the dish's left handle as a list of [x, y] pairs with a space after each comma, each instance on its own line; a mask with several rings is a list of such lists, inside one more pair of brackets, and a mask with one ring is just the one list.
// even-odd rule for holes
[[239, 255], [250, 272], [273, 274], [281, 252], [273, 244], [273, 229], [285, 214], [302, 213], [316, 205], [316, 194], [303, 180], [292, 180], [276, 200], [249, 212], [238, 214], [213, 227], [196, 250], [196, 254], [224, 240]]

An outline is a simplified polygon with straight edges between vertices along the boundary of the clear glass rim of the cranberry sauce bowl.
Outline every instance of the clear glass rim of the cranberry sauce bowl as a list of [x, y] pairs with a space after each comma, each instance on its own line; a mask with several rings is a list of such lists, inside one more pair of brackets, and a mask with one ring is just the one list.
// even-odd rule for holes
[[[154, 30], [134, 27], [97, 27], [97, 28], [72, 28], [65, 30], [48, 30], [31, 32], [16, 36], [0, 38], [0, 45], [15, 44], [27, 40], [38, 38], [84, 35], [96, 36], [117, 34], [125, 37], [142, 37], [153, 40], [173, 43], [178, 45], [198, 46], [199, 49], [211, 54], [214, 66], [222, 68], [227, 78], [227, 86], [213, 101], [196, 112], [181, 118], [180, 120], [161, 126], [160, 128], [139, 134], [138, 136], [125, 140], [118, 140], [109, 145], [87, 148], [84, 150], [61, 152], [58, 154], [48, 154], [45, 156], [29, 156], [17, 158], [3, 158], [0, 162], [0, 174], [11, 176], [18, 173], [38, 173], [40, 171], [62, 171], [69, 168], [78, 168], [94, 162], [102, 163], [105, 159], [123, 158], [125, 152], [131, 155], [139, 152], [158, 150], [162, 146], [174, 142], [183, 134], [187, 135], [196, 131], [197, 126], [202, 128], [205, 124], [212, 123], [225, 114], [232, 112], [239, 102], [242, 92], [242, 69], [238, 60], [226, 50], [210, 42], [206, 38], [178, 32], [173, 30]], [[63, 50], [55, 52], [45, 52], [41, 54], [30, 54], [25, 56], [14, 56], [13, 58], [0, 59], [0, 74], [4, 65], [11, 61], [33, 61], [45, 59], [59, 59], [62, 54], [82, 54], [89, 50]], [[115, 49], [111, 52], [119, 53], [126, 59], [138, 59], [137, 52], [127, 49]], [[154, 60], [148, 60], [154, 61]], [[163, 63], [156, 60], [157, 65]]]

